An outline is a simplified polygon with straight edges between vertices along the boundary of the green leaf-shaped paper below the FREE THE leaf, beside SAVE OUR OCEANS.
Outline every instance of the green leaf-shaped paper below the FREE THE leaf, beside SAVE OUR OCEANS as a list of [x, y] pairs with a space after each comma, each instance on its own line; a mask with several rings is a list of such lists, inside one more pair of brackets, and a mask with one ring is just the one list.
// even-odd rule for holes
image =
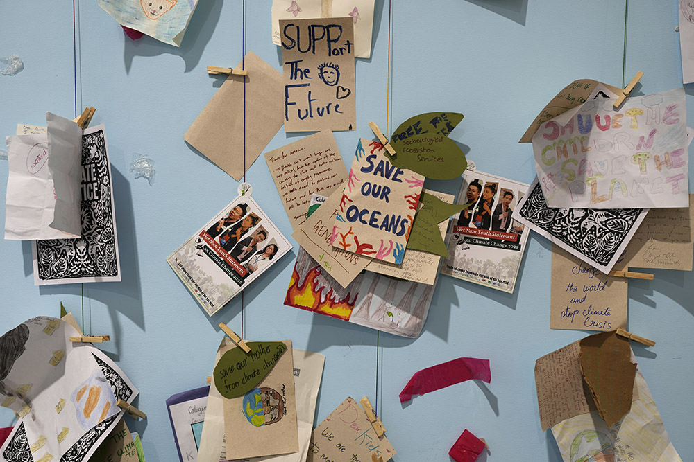
[[464, 210], [470, 204], [448, 204], [438, 197], [422, 193], [419, 197], [421, 208], [414, 215], [412, 231], [409, 232], [407, 249], [421, 250], [430, 254], [447, 257], [448, 249], [441, 238], [439, 223]]

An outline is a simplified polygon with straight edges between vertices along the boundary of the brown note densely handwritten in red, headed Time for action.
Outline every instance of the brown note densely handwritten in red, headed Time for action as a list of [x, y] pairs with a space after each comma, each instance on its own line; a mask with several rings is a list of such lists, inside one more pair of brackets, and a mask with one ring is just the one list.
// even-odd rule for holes
[[347, 178], [332, 132], [324, 130], [265, 153], [293, 229], [306, 220], [311, 195], [328, 196]]

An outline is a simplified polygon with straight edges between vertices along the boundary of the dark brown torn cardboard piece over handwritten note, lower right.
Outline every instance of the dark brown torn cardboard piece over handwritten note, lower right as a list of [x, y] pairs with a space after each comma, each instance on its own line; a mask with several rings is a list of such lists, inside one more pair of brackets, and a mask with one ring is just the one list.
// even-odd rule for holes
[[601, 332], [581, 340], [581, 373], [591, 390], [602, 420], [609, 427], [632, 408], [636, 364], [629, 339]]

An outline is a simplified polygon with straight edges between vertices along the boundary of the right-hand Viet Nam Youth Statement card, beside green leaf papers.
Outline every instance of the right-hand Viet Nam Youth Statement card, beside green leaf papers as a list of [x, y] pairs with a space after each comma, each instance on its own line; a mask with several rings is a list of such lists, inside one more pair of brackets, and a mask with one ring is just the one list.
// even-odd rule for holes
[[441, 274], [513, 292], [527, 233], [514, 210], [528, 185], [477, 170], [466, 171], [458, 202], [468, 208], [448, 231]]

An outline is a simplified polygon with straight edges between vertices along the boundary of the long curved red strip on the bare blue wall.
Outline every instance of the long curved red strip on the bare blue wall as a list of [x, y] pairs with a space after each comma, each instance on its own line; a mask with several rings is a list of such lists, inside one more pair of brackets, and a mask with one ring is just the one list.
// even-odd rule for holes
[[491, 382], [489, 359], [459, 357], [437, 366], [422, 369], [412, 375], [403, 391], [400, 392], [400, 402], [411, 400], [412, 395], [423, 395], [466, 380]]

